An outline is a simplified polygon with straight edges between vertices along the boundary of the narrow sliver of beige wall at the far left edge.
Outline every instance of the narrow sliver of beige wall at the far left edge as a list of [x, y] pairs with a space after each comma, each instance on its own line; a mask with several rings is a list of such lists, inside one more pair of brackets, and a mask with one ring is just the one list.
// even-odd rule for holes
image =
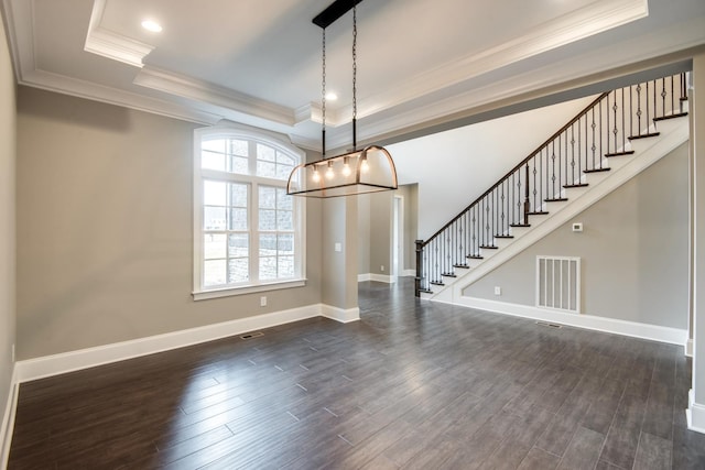
[[12, 385], [12, 345], [15, 339], [14, 127], [14, 75], [0, 21], [0, 413], [4, 413]]

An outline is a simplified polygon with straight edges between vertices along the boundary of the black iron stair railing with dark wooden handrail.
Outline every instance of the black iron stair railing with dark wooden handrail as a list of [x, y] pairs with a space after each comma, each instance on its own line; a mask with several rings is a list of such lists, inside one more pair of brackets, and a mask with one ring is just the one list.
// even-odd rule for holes
[[686, 99], [685, 74], [598, 96], [433, 237], [416, 241], [416, 296], [480, 259], [480, 249], [497, 249], [510, 228], [547, 214], [547, 203], [567, 200], [565, 189], [587, 186], [586, 174], [609, 171], [607, 159], [632, 154], [630, 142], [658, 135], [658, 121], [683, 116]]

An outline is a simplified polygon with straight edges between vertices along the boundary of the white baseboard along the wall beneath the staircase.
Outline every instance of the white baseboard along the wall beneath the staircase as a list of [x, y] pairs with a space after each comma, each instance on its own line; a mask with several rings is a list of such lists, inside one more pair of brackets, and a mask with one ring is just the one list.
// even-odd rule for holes
[[687, 330], [661, 327], [657, 325], [638, 324], [636, 321], [618, 320], [615, 318], [597, 317], [594, 315], [567, 314], [564, 311], [531, 307], [528, 305], [509, 304], [506, 302], [465, 296], [457, 299], [456, 304], [480, 310], [630, 336], [633, 338], [669, 342], [672, 345], [685, 346], [687, 339]]

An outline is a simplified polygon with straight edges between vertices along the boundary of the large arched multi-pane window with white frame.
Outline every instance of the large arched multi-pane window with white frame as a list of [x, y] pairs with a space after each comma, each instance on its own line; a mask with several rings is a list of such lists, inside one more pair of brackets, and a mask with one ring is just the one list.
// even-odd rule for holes
[[194, 298], [303, 285], [304, 205], [286, 182], [304, 153], [232, 125], [194, 142]]

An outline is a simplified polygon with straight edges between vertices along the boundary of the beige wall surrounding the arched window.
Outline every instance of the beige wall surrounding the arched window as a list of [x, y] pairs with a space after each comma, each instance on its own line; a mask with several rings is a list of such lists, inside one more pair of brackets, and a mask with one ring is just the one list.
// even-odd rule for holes
[[19, 359], [321, 302], [315, 203], [305, 287], [193, 300], [195, 127], [19, 88]]

